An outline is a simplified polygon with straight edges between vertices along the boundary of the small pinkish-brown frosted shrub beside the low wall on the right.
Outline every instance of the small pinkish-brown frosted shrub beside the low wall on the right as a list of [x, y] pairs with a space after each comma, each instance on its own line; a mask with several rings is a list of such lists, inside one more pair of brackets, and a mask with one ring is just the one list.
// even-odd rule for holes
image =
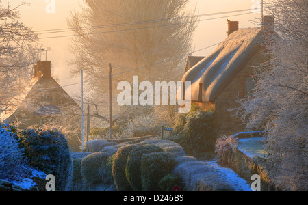
[[217, 161], [221, 165], [228, 164], [228, 161], [231, 160], [231, 155], [235, 152], [235, 149], [238, 147], [238, 138], [235, 137], [221, 137], [216, 142]]

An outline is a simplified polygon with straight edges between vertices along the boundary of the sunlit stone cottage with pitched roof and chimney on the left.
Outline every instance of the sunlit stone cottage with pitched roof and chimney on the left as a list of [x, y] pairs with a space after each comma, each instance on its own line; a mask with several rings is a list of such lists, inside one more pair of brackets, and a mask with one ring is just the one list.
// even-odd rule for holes
[[[60, 115], [64, 106], [81, 109], [51, 76], [51, 61], [38, 61], [29, 85], [11, 100], [10, 105], [2, 108], [0, 122], [18, 122], [19, 128], [42, 126], [51, 116]], [[69, 140], [70, 145], [73, 141]]]

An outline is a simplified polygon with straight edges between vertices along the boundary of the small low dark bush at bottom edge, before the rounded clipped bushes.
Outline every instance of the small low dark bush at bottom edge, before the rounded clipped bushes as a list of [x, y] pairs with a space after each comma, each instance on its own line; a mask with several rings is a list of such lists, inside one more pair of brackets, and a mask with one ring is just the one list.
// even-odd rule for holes
[[175, 186], [179, 186], [181, 191], [185, 191], [184, 184], [177, 174], [168, 174], [158, 183], [160, 191], [172, 191]]

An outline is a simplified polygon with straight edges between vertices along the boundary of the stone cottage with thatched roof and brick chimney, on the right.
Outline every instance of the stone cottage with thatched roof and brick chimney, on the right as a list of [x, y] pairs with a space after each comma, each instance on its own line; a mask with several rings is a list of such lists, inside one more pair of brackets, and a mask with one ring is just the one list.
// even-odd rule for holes
[[[265, 25], [272, 25], [272, 16], [264, 16], [264, 19]], [[192, 83], [193, 103], [215, 111], [217, 137], [244, 131], [242, 121], [230, 110], [240, 106], [237, 99], [251, 94], [255, 86], [253, 66], [266, 61], [267, 57], [261, 46], [264, 42], [261, 27], [238, 27], [238, 21], [228, 21], [227, 39], [188, 70], [182, 79]]]

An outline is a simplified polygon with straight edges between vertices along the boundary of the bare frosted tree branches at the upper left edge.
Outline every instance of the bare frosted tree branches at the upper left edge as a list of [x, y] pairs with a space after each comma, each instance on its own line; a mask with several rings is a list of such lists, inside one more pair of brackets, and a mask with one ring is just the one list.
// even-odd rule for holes
[[12, 8], [0, 0], [0, 108], [16, 101], [14, 98], [23, 92], [38, 57], [36, 46], [31, 44], [36, 35], [18, 21], [22, 5], [25, 3]]

